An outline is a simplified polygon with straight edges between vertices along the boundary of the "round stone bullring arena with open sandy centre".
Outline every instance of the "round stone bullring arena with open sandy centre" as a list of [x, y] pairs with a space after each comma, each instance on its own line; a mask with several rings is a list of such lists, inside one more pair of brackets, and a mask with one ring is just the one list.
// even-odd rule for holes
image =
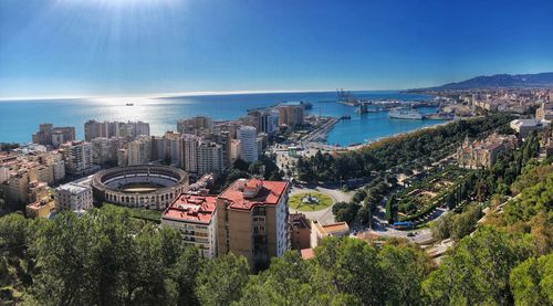
[[161, 210], [188, 190], [188, 173], [158, 165], [116, 167], [94, 175], [91, 186], [98, 201]]

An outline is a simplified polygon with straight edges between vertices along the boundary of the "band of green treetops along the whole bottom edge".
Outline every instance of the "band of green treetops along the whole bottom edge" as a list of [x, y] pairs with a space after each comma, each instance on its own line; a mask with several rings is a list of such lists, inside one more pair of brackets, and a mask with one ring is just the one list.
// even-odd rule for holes
[[[128, 214], [91, 210], [54, 220], [0, 218], [2, 299], [23, 305], [544, 305], [551, 254], [530, 233], [484, 226], [435, 267], [416, 245], [330, 238], [250, 274], [243, 257], [215, 260], [180, 235]], [[8, 272], [8, 273], [7, 273]], [[536, 295], [530, 295], [535, 292]], [[535, 302], [535, 303], [534, 303]]]

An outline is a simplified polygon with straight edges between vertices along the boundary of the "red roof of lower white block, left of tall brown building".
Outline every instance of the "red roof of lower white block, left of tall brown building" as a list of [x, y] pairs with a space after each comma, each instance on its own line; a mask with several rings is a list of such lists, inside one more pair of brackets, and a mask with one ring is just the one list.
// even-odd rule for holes
[[182, 193], [167, 208], [163, 219], [174, 221], [211, 222], [216, 210], [215, 196], [196, 196]]

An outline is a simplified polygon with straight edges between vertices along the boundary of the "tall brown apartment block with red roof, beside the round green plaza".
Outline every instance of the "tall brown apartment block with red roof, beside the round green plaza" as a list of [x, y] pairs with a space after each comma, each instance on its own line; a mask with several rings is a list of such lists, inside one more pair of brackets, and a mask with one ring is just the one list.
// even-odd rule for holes
[[232, 252], [258, 271], [290, 249], [289, 182], [239, 179], [217, 198], [218, 254]]

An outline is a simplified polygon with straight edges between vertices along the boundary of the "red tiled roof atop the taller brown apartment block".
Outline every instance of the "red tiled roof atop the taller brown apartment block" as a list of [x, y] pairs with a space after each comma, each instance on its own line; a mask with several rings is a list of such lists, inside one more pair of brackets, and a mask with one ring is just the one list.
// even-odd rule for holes
[[[261, 187], [253, 197], [244, 194], [246, 191]], [[276, 205], [281, 196], [286, 192], [286, 181], [265, 181], [260, 179], [239, 179], [231, 183], [219, 198], [230, 202], [230, 209], [251, 210], [254, 205]]]

